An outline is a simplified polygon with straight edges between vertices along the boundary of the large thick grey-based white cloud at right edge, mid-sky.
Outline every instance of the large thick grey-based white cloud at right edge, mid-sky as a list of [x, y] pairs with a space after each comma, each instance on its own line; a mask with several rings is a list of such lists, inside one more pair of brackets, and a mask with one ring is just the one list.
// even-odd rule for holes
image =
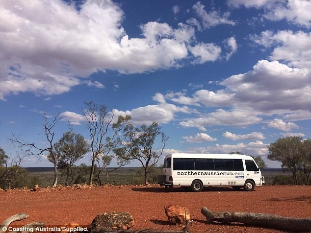
[[278, 61], [260, 60], [253, 70], [229, 77], [220, 84], [239, 107], [262, 113], [284, 113], [311, 106], [311, 78], [307, 69], [290, 68]]

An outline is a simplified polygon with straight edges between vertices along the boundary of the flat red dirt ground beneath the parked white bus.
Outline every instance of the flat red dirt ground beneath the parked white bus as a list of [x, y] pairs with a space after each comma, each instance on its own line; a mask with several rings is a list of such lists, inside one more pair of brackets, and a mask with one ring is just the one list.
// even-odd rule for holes
[[0, 191], [0, 223], [16, 213], [29, 218], [15, 226], [32, 221], [47, 226], [65, 226], [69, 222], [89, 226], [102, 212], [127, 211], [134, 217], [134, 229], [182, 230], [183, 226], [168, 224], [164, 206], [184, 206], [194, 220], [191, 231], [203, 232], [282, 232], [243, 224], [206, 224], [201, 208], [212, 211], [243, 211], [311, 218], [311, 186], [262, 186], [252, 192], [231, 188], [207, 188], [194, 193], [176, 187], [166, 192], [158, 186], [109, 186], [91, 189], [61, 189], [30, 192]]

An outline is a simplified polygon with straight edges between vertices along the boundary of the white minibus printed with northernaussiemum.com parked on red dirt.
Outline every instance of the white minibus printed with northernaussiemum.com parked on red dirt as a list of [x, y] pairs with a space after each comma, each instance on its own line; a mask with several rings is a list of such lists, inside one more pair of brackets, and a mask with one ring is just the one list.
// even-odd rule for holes
[[246, 191], [264, 184], [254, 159], [237, 154], [170, 154], [164, 158], [163, 175], [158, 184], [181, 186], [200, 192], [204, 186], [243, 187]]

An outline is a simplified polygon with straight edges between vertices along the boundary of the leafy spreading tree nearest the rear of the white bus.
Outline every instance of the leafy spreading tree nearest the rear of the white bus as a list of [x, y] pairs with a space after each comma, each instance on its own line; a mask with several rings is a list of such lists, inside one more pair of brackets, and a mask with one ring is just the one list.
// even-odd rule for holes
[[[118, 158], [126, 161], [137, 160], [142, 164], [145, 184], [148, 184], [148, 175], [156, 166], [168, 140], [160, 130], [157, 122], [150, 126], [144, 124], [139, 128], [128, 124], [124, 128], [123, 139], [119, 139], [121, 147], [114, 150]], [[157, 138], [160, 138], [160, 141], [157, 141]], [[159, 146], [156, 146], [157, 142]]]

